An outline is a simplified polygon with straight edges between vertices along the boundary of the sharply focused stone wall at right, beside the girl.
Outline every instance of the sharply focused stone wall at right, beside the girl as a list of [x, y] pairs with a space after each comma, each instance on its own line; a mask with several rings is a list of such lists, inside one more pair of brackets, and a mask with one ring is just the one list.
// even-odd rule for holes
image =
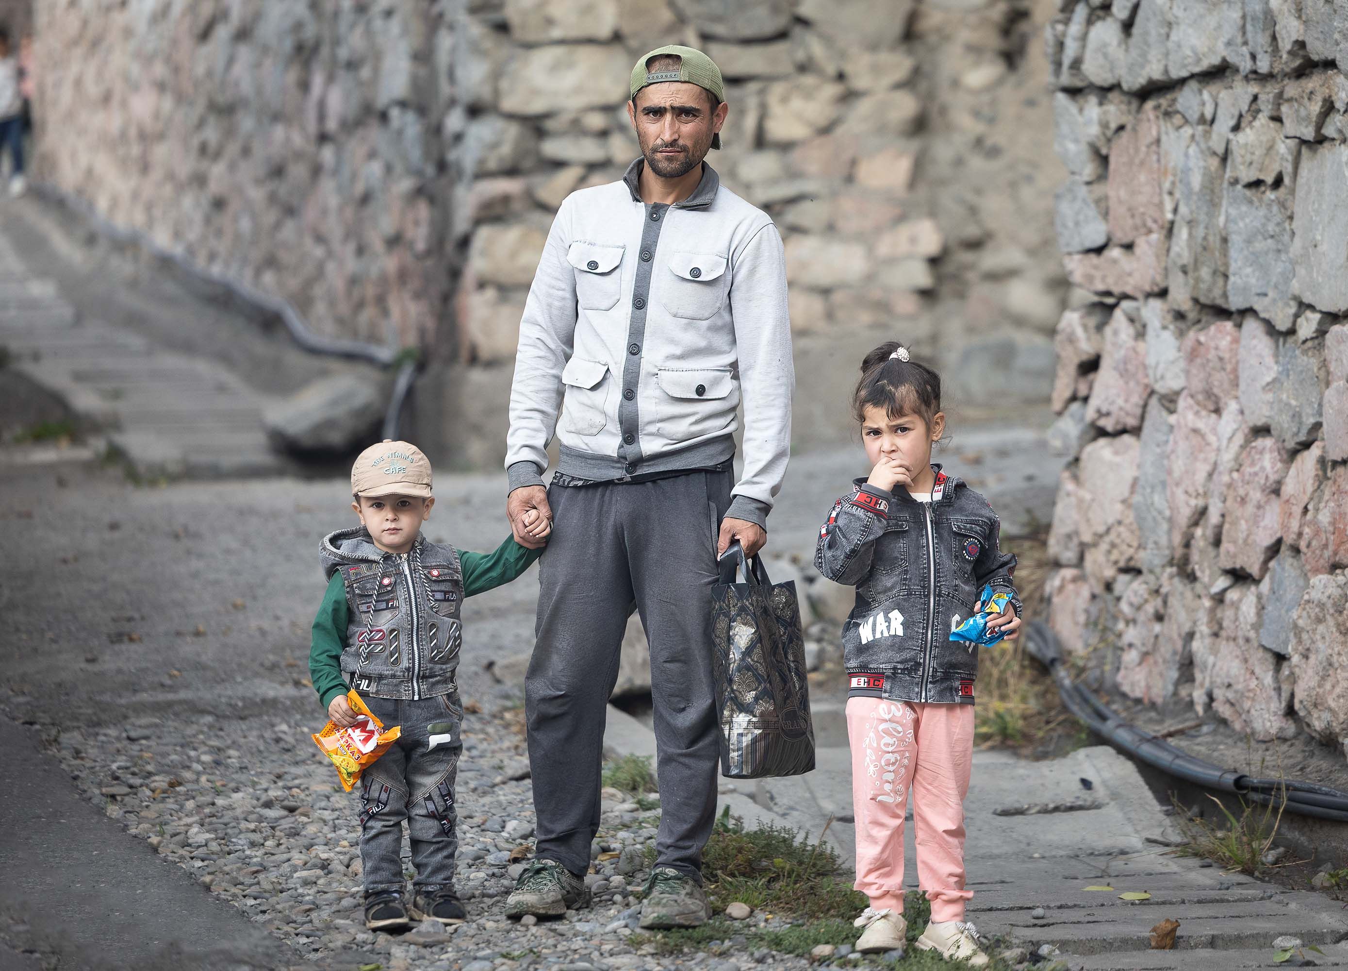
[[1051, 623], [1120, 690], [1348, 750], [1348, 42], [1329, 0], [1064, 0]]

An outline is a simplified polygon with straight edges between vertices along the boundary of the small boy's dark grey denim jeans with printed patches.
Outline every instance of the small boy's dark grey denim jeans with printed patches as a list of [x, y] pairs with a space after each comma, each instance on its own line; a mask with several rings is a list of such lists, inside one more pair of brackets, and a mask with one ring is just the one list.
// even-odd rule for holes
[[412, 847], [418, 893], [454, 886], [458, 848], [454, 775], [462, 753], [458, 695], [419, 701], [367, 697], [369, 711], [402, 736], [360, 779], [360, 860], [365, 893], [402, 891], [403, 820]]

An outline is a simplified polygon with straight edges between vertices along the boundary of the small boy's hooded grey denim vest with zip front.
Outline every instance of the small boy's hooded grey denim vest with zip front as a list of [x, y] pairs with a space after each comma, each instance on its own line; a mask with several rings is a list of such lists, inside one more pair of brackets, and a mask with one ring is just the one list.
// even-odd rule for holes
[[417, 537], [410, 553], [384, 553], [364, 527], [324, 539], [328, 579], [346, 588], [341, 669], [361, 695], [418, 700], [457, 688], [464, 643], [464, 570], [453, 546]]

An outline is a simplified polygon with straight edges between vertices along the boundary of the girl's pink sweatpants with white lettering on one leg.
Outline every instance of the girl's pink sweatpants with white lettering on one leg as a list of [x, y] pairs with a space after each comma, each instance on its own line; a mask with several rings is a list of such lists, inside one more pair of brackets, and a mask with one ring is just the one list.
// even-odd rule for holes
[[876, 910], [903, 913], [903, 817], [913, 788], [918, 883], [933, 921], [964, 920], [964, 796], [973, 705], [853, 697], [847, 703], [856, 813], [856, 883]]

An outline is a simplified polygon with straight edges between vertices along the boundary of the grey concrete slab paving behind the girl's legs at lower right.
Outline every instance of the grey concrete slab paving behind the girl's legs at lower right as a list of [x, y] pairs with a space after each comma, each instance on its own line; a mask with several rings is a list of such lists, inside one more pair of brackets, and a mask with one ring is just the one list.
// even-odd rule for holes
[[[851, 859], [853, 829], [837, 821], [852, 815], [849, 753], [820, 748], [817, 762], [809, 775], [756, 784], [754, 797], [811, 833], [834, 816], [830, 837]], [[1093, 801], [1097, 808], [1020, 816], [993, 812], [1069, 800]], [[969, 920], [981, 933], [1004, 935], [1030, 951], [1053, 945], [1074, 968], [1268, 967], [1273, 941], [1283, 935], [1320, 945], [1326, 956], [1312, 955], [1318, 967], [1348, 967], [1348, 944], [1340, 943], [1348, 940], [1348, 912], [1341, 905], [1171, 855], [1173, 824], [1136, 766], [1108, 746], [1046, 762], [975, 753], [965, 827], [968, 886], [975, 891]], [[915, 890], [911, 825], [905, 836], [905, 883]], [[1132, 890], [1151, 898], [1119, 900]], [[1033, 916], [1037, 908], [1043, 909], [1042, 918]], [[1180, 921], [1175, 949], [1151, 951], [1148, 932], [1167, 917]]]

